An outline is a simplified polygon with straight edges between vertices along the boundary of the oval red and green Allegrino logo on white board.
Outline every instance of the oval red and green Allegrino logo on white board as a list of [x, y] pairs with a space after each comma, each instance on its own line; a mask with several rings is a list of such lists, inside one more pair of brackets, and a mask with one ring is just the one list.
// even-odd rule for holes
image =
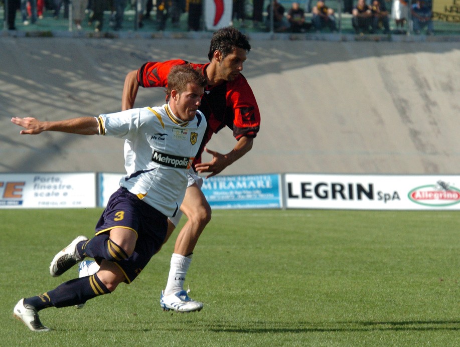
[[407, 197], [416, 204], [424, 206], [450, 206], [460, 203], [460, 190], [448, 183], [438, 181], [435, 185], [412, 189]]

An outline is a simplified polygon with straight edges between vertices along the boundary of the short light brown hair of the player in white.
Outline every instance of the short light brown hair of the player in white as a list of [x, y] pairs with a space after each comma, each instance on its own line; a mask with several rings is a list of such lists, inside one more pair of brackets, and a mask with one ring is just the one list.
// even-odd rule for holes
[[168, 87], [166, 94], [171, 96], [171, 91], [177, 90], [180, 93], [187, 89], [187, 84], [194, 83], [200, 87], [205, 87], [207, 84], [206, 77], [201, 69], [193, 68], [190, 64], [182, 64], [173, 66], [168, 74]]

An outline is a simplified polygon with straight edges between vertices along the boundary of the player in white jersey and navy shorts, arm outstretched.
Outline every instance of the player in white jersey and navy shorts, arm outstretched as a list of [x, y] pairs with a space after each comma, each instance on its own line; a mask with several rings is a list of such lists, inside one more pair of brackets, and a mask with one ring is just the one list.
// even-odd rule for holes
[[121, 282], [131, 283], [161, 248], [168, 217], [174, 217], [187, 188], [187, 173], [206, 130], [198, 110], [206, 79], [191, 65], [171, 70], [168, 103], [98, 117], [63, 121], [12, 118], [21, 134], [62, 131], [106, 135], [125, 140], [126, 176], [109, 199], [96, 225], [95, 236], [74, 239], [50, 265], [59, 276], [85, 257], [100, 264], [97, 273], [67, 281], [42, 295], [22, 298], [13, 310], [33, 331], [48, 331], [38, 312], [48, 307], [80, 305], [109, 294]]

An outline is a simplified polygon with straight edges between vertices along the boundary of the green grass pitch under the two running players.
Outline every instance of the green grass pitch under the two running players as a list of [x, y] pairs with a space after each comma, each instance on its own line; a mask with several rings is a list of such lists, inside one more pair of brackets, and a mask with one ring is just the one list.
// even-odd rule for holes
[[160, 309], [175, 234], [132, 284], [41, 311], [53, 331], [31, 332], [13, 307], [77, 276], [49, 262], [101, 211], [0, 210], [0, 345], [460, 343], [460, 214], [440, 211], [216, 210], [186, 279], [201, 312]]

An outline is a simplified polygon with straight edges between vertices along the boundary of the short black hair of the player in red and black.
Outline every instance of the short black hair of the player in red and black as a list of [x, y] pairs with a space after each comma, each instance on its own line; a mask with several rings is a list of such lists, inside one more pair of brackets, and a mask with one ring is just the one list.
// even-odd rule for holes
[[211, 38], [208, 53], [209, 61], [212, 60], [215, 51], [219, 51], [222, 58], [225, 58], [237, 48], [242, 48], [246, 50], [246, 53], [249, 53], [251, 45], [246, 35], [233, 27], [219, 29]]

